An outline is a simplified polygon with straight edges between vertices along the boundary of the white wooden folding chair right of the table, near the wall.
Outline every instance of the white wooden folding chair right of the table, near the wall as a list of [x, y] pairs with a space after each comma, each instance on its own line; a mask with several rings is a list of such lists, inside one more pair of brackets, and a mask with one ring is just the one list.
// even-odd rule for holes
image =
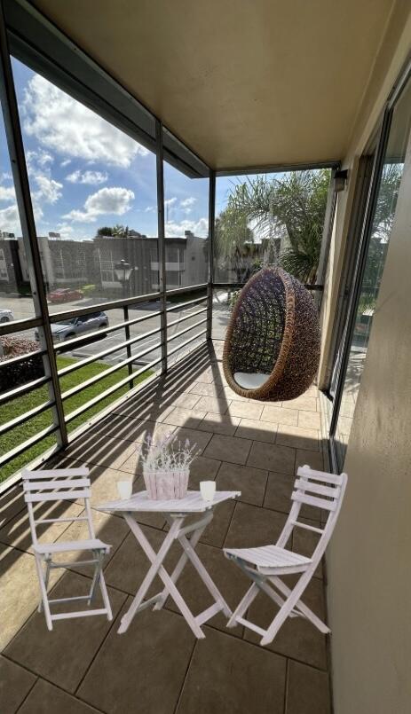
[[[276, 545], [224, 549], [225, 557], [234, 561], [253, 581], [238, 608], [234, 610], [233, 615], [230, 617], [227, 627], [243, 624], [261, 635], [260, 644], [263, 646], [273, 642], [275, 635], [287, 617], [305, 617], [320, 632], [330, 632], [328, 626], [322, 623], [320, 618], [311, 609], [307, 608], [300, 598], [320, 563], [335, 528], [343, 503], [347, 475], [327, 474], [322, 471], [313, 471], [309, 466], [304, 466], [298, 469], [297, 476], [298, 478], [294, 483], [294, 490], [291, 494], [293, 504]], [[327, 522], [323, 528], [316, 528], [297, 520], [303, 504], [318, 506], [328, 511]], [[288, 538], [295, 528], [310, 530], [320, 536], [311, 558], [293, 553], [285, 548]], [[299, 577], [295, 587], [291, 590], [281, 580], [280, 576], [294, 573], [301, 573], [301, 577]], [[280, 606], [277, 615], [267, 630], [258, 627], [257, 624], [251, 623], [243, 617], [260, 590]]]

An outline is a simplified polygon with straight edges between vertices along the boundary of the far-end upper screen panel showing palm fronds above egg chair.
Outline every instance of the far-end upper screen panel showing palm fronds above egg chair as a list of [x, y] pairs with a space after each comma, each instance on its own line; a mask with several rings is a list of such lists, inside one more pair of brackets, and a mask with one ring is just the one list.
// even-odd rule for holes
[[263, 263], [315, 282], [329, 169], [217, 177], [215, 282], [245, 283]]

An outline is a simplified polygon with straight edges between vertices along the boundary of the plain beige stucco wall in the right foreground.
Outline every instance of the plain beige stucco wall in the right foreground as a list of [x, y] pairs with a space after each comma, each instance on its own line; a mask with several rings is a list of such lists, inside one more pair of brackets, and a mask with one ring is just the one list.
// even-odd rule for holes
[[408, 164], [345, 459], [346, 500], [328, 551], [336, 714], [411, 710], [410, 195]]

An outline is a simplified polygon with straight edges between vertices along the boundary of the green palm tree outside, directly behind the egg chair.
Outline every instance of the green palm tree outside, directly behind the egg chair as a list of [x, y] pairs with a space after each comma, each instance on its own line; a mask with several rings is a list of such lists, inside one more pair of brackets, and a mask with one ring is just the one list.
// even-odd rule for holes
[[[266, 251], [268, 263], [280, 263], [296, 278], [313, 283], [320, 259], [329, 177], [328, 169], [320, 169], [290, 171], [270, 180], [248, 178], [233, 187], [224, 213], [230, 216], [233, 228], [236, 224], [242, 229], [251, 225], [254, 236], [265, 239], [271, 247]], [[226, 239], [228, 235], [227, 231]]]

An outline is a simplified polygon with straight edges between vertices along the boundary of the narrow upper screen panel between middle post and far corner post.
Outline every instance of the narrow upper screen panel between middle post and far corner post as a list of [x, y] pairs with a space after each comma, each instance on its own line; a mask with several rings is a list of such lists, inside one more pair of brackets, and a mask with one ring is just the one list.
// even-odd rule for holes
[[206, 283], [209, 178], [191, 178], [164, 161], [164, 224], [167, 286]]

